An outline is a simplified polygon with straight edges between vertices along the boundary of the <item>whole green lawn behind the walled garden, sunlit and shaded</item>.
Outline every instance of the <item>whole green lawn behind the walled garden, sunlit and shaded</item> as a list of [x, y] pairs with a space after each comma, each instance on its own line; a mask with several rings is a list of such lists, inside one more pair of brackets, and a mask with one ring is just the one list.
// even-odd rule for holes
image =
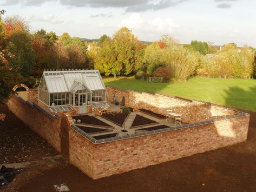
[[256, 111], [256, 80], [190, 78], [187, 82], [149, 83], [133, 77], [104, 77], [103, 81], [123, 89], [159, 92]]

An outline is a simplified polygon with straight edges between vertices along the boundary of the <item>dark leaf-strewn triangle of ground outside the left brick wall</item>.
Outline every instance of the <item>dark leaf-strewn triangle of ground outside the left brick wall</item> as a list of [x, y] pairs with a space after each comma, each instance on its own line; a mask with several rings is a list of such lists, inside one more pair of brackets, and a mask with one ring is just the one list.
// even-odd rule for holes
[[1, 113], [6, 117], [4, 121], [0, 120], [0, 168], [5, 163], [42, 160], [42, 157], [58, 154], [47, 141], [19, 120], [7, 105], [0, 104]]

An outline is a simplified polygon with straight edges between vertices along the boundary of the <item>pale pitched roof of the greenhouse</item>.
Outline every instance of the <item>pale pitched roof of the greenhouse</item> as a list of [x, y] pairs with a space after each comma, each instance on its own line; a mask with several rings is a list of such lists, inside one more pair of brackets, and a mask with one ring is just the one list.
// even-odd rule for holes
[[46, 70], [43, 76], [49, 93], [71, 92], [74, 82], [83, 83], [91, 91], [106, 89], [99, 70]]

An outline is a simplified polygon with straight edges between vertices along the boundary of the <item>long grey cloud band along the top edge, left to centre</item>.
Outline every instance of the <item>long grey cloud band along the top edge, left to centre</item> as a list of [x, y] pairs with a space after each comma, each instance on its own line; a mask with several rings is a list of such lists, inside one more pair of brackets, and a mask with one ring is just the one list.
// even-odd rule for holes
[[[91, 8], [123, 8], [126, 12], [166, 9], [188, 0], [3, 0], [2, 5], [41, 5], [45, 2], [60, 2], [61, 5]], [[230, 0], [229, 0], [230, 1]]]

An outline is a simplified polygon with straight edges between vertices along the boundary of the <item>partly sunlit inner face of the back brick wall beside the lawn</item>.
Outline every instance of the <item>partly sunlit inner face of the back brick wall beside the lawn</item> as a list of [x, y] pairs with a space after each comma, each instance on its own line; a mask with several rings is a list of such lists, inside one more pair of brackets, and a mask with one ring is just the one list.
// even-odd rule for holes
[[226, 115], [234, 115], [234, 112], [231, 110], [225, 110], [198, 101], [191, 102], [163, 94], [149, 94], [147, 92], [123, 90], [111, 86], [106, 86], [106, 88], [107, 100], [110, 102], [115, 100], [115, 98], [120, 101], [124, 96], [126, 97], [126, 105], [128, 107], [143, 108], [162, 115], [166, 115], [167, 109], [172, 109], [173, 112], [182, 114], [183, 123], [195, 123]]

